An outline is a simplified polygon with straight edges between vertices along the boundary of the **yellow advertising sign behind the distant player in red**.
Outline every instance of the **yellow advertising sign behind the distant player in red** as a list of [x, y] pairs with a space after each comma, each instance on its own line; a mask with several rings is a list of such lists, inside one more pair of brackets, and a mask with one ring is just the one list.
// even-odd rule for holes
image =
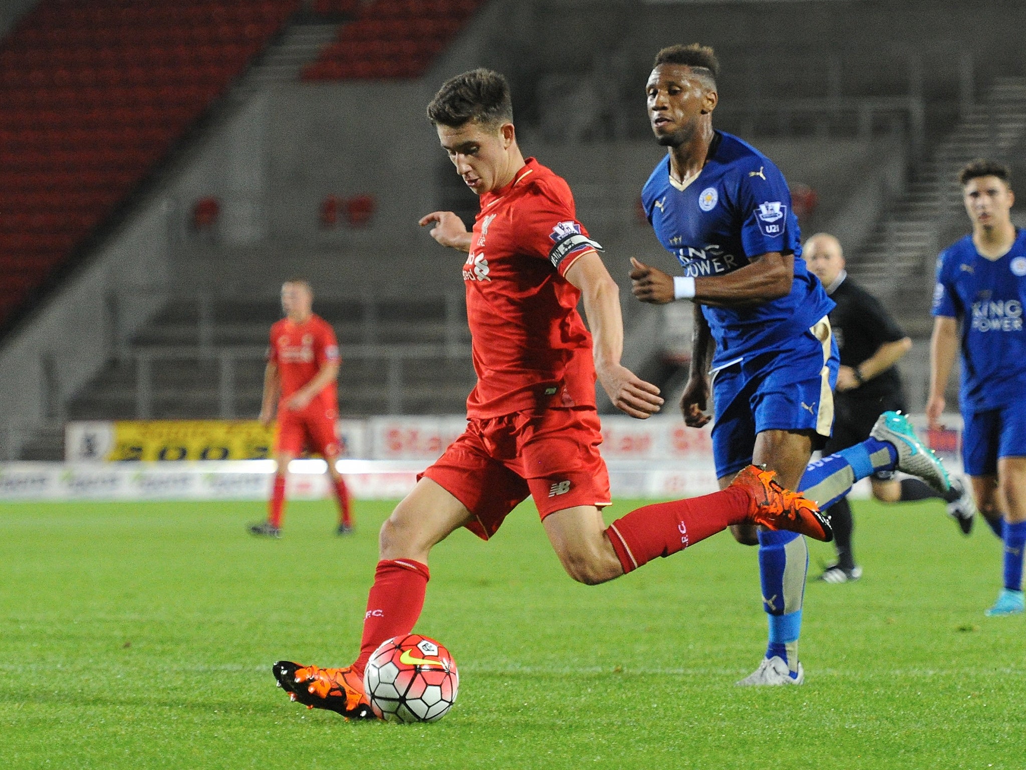
[[256, 420], [123, 420], [113, 423], [107, 461], [263, 460], [274, 426]]

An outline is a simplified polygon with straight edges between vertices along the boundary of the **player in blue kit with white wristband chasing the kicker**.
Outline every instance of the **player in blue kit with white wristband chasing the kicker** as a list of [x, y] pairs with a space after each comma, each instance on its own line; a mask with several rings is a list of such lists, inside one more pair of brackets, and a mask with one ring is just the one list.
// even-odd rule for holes
[[[712, 395], [721, 489], [754, 462], [823, 508], [877, 470], [898, 468], [946, 490], [940, 461], [893, 412], [880, 416], [863, 444], [808, 463], [833, 421], [838, 355], [827, 314], [834, 303], [796, 259], [798, 223], [783, 175], [754, 147], [712, 127], [718, 70], [711, 48], [674, 45], [657, 54], [646, 84], [653, 131], [668, 153], [641, 200], [684, 275], [632, 260], [632, 292], [642, 302], [695, 303], [690, 377], [681, 399], [685, 424], [709, 422], [704, 413]], [[770, 621], [763, 660], [738, 684], [800, 684], [804, 539], [747, 526], [732, 532], [739, 542], [759, 546]]]

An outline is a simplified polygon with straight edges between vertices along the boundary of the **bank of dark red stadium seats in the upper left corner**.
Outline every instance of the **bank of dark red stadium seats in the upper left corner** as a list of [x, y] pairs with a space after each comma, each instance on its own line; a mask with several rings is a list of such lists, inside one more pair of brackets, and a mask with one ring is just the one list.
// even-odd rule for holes
[[0, 324], [259, 53], [299, 0], [45, 0], [0, 47]]

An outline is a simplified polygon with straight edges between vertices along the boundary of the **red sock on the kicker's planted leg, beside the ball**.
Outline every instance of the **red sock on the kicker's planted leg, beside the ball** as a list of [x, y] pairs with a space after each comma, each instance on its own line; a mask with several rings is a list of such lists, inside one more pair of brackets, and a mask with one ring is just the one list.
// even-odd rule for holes
[[360, 676], [382, 642], [413, 629], [424, 608], [430, 578], [428, 566], [411, 559], [378, 563], [374, 584], [367, 596], [367, 613], [363, 616], [360, 657], [353, 663]]

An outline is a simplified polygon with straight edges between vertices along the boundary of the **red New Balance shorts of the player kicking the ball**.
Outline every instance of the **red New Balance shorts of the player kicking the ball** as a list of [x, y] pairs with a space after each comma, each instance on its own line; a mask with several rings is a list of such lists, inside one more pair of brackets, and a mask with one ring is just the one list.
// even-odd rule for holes
[[598, 413], [590, 408], [472, 418], [421, 476], [463, 503], [477, 519], [467, 529], [487, 540], [528, 495], [542, 518], [578, 505], [608, 505], [601, 442]]

